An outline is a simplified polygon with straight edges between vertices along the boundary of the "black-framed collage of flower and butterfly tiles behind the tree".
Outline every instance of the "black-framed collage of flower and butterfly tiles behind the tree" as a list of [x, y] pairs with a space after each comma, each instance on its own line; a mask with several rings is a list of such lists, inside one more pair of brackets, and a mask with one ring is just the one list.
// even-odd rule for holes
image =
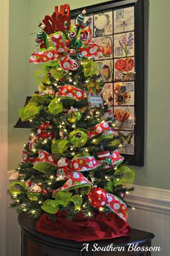
[[[120, 153], [130, 164], [143, 166], [143, 0], [109, 1], [86, 7], [86, 12], [84, 22], [91, 23], [92, 42], [104, 48], [105, 57], [94, 61], [104, 82], [102, 97], [117, 119]], [[72, 25], [76, 16], [76, 10], [71, 11]]]

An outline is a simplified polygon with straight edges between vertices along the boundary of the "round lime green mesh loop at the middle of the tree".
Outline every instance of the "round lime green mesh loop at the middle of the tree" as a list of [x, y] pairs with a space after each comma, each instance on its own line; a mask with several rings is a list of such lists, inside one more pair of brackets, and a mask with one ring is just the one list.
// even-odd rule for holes
[[87, 135], [81, 129], [75, 129], [73, 132], [70, 133], [68, 140], [73, 146], [79, 148], [86, 144]]

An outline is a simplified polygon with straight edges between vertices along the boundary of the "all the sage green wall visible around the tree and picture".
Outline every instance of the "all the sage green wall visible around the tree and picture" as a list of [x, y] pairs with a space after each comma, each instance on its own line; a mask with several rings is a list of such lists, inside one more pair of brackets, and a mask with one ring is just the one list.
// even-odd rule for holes
[[[67, 1], [71, 9], [76, 9], [103, 1], [85, 2]], [[35, 66], [27, 64], [30, 53], [35, 48], [34, 35], [37, 31], [38, 20], [42, 20], [45, 14], [52, 14], [56, 4], [64, 4], [65, 1], [55, 0], [15, 0], [10, 3], [10, 38], [16, 38], [14, 44], [10, 42], [9, 48], [9, 168], [15, 168], [21, 155], [23, 139], [27, 138], [27, 132], [23, 129], [12, 129], [12, 124], [17, 120], [17, 108], [22, 106], [24, 98], [35, 91], [34, 69]], [[21, 8], [25, 10], [24, 24], [16, 17], [16, 4], [19, 13]], [[21, 5], [20, 5], [21, 4]], [[14, 7], [14, 8], [12, 8]], [[30, 12], [29, 12], [30, 8]], [[150, 0], [149, 11], [149, 38], [148, 38], [148, 87], [146, 88], [146, 162], [144, 167], [134, 167], [136, 171], [135, 184], [170, 189], [170, 157], [169, 157], [169, 9], [170, 1]], [[30, 15], [28, 17], [28, 15]], [[24, 33], [24, 42], [14, 34], [17, 32], [14, 19]], [[12, 22], [13, 20], [13, 22]], [[27, 22], [26, 22], [27, 20]], [[19, 35], [19, 32], [17, 32]], [[30, 41], [29, 41], [30, 40]], [[19, 44], [19, 45], [18, 45]], [[19, 49], [21, 61], [14, 57], [14, 47]], [[16, 70], [17, 69], [17, 70]], [[17, 75], [20, 72], [19, 75]], [[15, 87], [14, 87], [15, 86]], [[14, 89], [15, 88], [15, 89]], [[19, 95], [20, 93], [20, 95]], [[14, 97], [15, 96], [15, 97]], [[10, 112], [11, 111], [11, 112]]]

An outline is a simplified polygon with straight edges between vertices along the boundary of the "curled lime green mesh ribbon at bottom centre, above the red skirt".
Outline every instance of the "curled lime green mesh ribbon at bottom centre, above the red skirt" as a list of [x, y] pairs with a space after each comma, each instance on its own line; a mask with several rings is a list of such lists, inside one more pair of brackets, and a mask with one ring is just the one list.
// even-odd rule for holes
[[73, 195], [71, 192], [56, 192], [53, 197], [55, 200], [46, 200], [42, 205], [42, 210], [46, 213], [57, 213], [60, 206], [63, 208], [68, 207], [68, 205], [73, 202], [74, 209], [79, 210], [81, 208], [83, 199], [79, 195]]

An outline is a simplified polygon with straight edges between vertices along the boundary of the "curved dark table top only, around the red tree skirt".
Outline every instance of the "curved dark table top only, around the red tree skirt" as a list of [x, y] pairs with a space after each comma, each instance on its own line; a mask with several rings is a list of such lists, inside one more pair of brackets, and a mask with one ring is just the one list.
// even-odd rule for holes
[[[37, 239], [41, 239], [44, 242], [48, 242], [50, 244], [61, 245], [61, 246], [67, 246], [67, 247], [76, 247], [76, 248], [82, 248], [82, 244], [86, 243], [84, 242], [75, 242], [73, 240], [68, 239], [58, 239], [53, 236], [48, 236], [45, 234], [41, 234], [40, 232], [35, 230], [35, 223], [36, 220], [30, 218], [27, 216], [27, 214], [20, 214], [18, 217], [19, 225], [24, 229], [24, 231], [27, 231], [27, 233], [31, 234]], [[146, 244], [146, 242], [151, 241], [151, 239], [154, 238], [154, 234], [146, 232], [146, 231], [140, 231], [138, 229], [131, 229], [130, 236], [122, 236], [115, 239], [105, 239], [105, 240], [99, 240], [99, 241], [93, 241], [88, 242], [88, 244], [92, 245], [94, 242], [99, 244], [100, 246], [107, 245], [108, 243], [112, 246], [127, 246], [127, 244]]]

